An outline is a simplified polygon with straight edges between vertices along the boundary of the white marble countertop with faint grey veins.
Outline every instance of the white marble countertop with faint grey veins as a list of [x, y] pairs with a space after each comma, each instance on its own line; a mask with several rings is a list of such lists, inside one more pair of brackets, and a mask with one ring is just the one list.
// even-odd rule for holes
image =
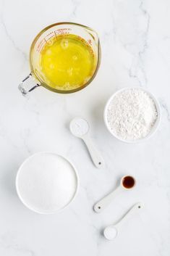
[[[0, 255], [169, 256], [170, 255], [170, 1], [30, 0], [0, 1]], [[29, 73], [35, 35], [54, 22], [72, 21], [98, 31], [102, 61], [93, 83], [75, 94], [37, 88], [25, 99], [17, 86]], [[106, 100], [124, 86], [142, 86], [161, 104], [158, 132], [145, 143], [124, 144], [103, 125]], [[80, 115], [106, 161], [96, 169], [68, 123]], [[38, 215], [22, 205], [14, 180], [35, 152], [56, 152], [74, 162], [80, 189], [55, 215]], [[130, 173], [137, 187], [122, 193], [101, 214], [93, 204]], [[145, 208], [115, 241], [102, 235], [135, 202]]]

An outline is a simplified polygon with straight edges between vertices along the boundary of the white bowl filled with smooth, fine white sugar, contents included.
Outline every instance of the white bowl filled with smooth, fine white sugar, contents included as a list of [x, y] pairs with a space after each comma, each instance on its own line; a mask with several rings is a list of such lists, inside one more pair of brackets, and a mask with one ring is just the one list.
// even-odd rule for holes
[[51, 214], [64, 209], [75, 198], [77, 188], [75, 167], [55, 153], [33, 154], [17, 172], [17, 194], [34, 212]]

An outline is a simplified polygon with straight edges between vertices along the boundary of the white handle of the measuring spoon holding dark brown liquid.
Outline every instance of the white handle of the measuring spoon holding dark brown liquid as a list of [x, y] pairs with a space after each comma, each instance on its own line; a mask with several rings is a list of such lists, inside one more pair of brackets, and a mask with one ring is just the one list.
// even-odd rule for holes
[[112, 191], [110, 194], [108, 194], [106, 197], [103, 197], [99, 202], [97, 202], [94, 205], [95, 212], [102, 212], [116, 197], [117, 194], [119, 194], [122, 191], [122, 186], [118, 186], [114, 191]]

